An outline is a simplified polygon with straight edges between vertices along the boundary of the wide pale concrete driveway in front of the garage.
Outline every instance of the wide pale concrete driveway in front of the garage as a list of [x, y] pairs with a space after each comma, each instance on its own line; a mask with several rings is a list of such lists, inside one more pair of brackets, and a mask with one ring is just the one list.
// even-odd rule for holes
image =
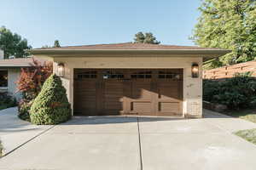
[[204, 114], [203, 119], [73, 117], [4, 156], [0, 169], [254, 170], [256, 146], [232, 132], [256, 124]]

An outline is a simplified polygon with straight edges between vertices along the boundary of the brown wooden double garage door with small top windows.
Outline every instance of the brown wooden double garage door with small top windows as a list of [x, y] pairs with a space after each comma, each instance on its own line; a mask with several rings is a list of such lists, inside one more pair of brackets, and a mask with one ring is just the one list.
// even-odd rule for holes
[[183, 69], [75, 69], [74, 115], [181, 116]]

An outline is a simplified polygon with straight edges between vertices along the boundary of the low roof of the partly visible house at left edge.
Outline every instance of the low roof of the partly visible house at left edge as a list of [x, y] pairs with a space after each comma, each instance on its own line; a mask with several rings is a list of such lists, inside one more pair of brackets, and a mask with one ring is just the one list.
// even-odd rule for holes
[[[19, 58], [19, 59], [0, 59], [0, 68], [20, 68], [30, 67], [33, 63], [33, 58]], [[37, 59], [40, 62], [44, 62], [44, 59]]]

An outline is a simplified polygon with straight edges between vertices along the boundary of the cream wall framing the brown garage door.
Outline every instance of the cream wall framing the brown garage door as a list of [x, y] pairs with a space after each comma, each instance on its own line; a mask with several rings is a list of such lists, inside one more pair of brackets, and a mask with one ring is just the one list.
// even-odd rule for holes
[[[62, 82], [72, 105], [74, 68], [183, 68], [183, 116], [202, 116], [201, 57], [63, 57], [54, 59], [55, 73], [59, 62], [65, 64]], [[199, 78], [191, 77], [193, 62], [200, 65]]]

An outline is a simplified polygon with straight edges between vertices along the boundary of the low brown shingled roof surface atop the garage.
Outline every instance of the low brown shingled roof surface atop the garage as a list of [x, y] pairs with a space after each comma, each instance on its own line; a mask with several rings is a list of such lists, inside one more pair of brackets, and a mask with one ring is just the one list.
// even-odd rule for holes
[[124, 43], [109, 43], [109, 44], [96, 44], [96, 45], [80, 45], [80, 46], [66, 46], [61, 48], [35, 48], [37, 49], [55, 49], [55, 50], [61, 50], [61, 49], [195, 49], [195, 50], [212, 50], [212, 49], [220, 49], [220, 48], [201, 48], [197, 46], [177, 46], [177, 45], [161, 45], [161, 44], [149, 44], [149, 43], [134, 43], [134, 42], [124, 42]]

